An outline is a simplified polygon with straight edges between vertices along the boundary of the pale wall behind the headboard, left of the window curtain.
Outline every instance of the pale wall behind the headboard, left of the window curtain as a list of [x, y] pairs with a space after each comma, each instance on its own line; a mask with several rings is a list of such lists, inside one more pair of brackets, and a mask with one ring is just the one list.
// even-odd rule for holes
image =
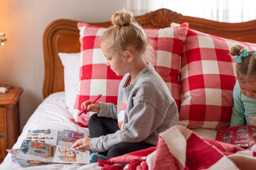
[[125, 7], [125, 0], [0, 0], [0, 83], [24, 89], [20, 96], [20, 129], [43, 100], [42, 36], [58, 18], [105, 22]]

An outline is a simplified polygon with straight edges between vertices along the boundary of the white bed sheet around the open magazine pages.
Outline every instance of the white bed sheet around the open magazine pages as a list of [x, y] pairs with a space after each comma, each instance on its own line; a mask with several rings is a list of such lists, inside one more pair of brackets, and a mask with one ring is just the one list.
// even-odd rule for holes
[[[80, 127], [70, 120], [72, 115], [67, 109], [64, 92], [56, 92], [45, 98], [29, 118], [17, 142], [13, 145], [13, 149], [20, 148], [22, 140], [26, 138], [29, 129], [69, 129], [72, 131], [84, 132], [85, 135], [88, 135], [88, 128]], [[13, 163], [10, 153], [8, 153], [3, 163], [0, 165], [0, 169], [101, 169], [101, 167], [97, 165], [97, 163], [87, 165], [49, 164], [44, 166], [22, 167], [17, 163]]]

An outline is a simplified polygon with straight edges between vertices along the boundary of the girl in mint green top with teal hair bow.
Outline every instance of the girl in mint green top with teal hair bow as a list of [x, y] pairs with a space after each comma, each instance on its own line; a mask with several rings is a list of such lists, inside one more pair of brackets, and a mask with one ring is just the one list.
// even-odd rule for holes
[[230, 127], [256, 125], [256, 52], [248, 52], [244, 46], [235, 45], [231, 48], [230, 55], [236, 56], [237, 62]]

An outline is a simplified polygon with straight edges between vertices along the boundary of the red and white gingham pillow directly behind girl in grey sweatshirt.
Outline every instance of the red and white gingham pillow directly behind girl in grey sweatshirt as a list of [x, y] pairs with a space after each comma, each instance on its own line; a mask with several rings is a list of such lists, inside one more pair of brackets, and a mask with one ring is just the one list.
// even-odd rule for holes
[[[116, 74], [106, 66], [106, 57], [100, 48], [100, 35], [106, 28], [78, 23], [80, 30], [81, 53], [83, 55], [79, 92], [76, 97], [74, 108], [81, 110], [81, 103], [102, 94], [99, 101], [106, 103], [117, 103], [118, 86], [122, 76]], [[188, 24], [180, 27], [166, 27], [164, 29], [144, 29], [148, 38], [154, 39], [154, 57], [150, 59], [157, 73], [168, 85], [177, 106], [180, 105], [180, 55]], [[80, 119], [80, 120], [79, 120]], [[83, 120], [81, 120], [83, 119]], [[82, 115], [78, 122], [86, 124], [89, 115]]]

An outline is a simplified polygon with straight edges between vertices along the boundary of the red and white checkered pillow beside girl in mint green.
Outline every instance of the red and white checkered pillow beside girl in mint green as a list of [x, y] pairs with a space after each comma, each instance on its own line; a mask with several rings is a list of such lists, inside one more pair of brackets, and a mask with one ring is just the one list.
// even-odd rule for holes
[[228, 53], [237, 43], [248, 48], [256, 46], [188, 29], [181, 58], [181, 125], [229, 127], [236, 62]]

